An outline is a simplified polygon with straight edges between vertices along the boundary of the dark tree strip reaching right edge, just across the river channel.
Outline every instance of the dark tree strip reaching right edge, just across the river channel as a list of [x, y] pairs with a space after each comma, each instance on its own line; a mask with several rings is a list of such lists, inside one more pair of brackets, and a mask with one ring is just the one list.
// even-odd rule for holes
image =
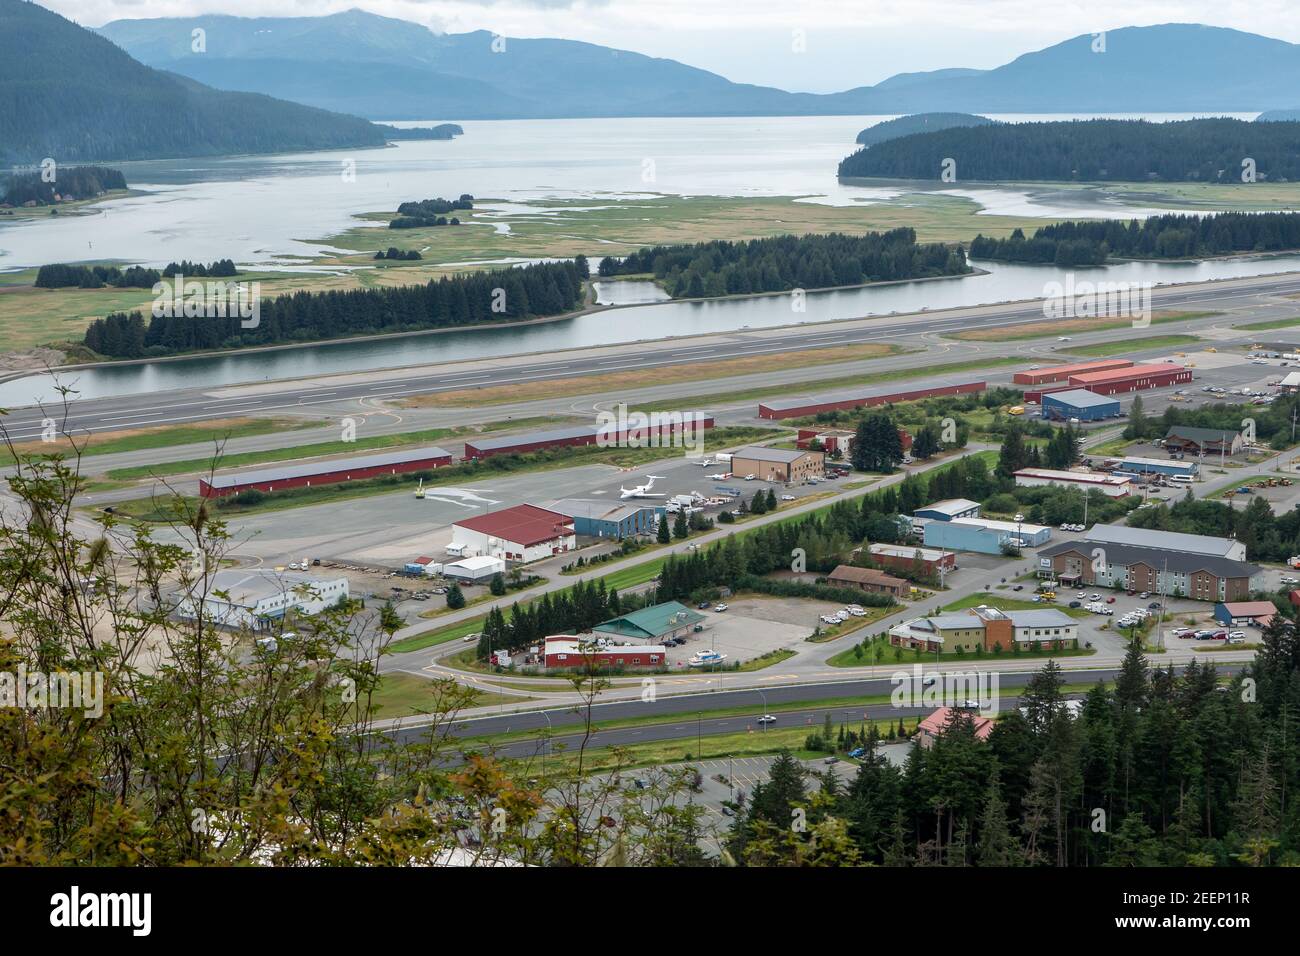
[[1300, 212], [1221, 212], [1214, 216], [1152, 216], [1131, 220], [1053, 222], [1024, 237], [976, 235], [972, 259], [1053, 265], [1100, 265], [1110, 256], [1190, 259], [1234, 252], [1283, 252], [1300, 248]]

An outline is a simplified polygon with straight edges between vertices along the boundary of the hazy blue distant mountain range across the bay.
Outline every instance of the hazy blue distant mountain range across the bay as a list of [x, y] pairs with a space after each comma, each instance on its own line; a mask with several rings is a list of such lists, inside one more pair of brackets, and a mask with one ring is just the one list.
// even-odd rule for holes
[[[190, 52], [195, 27], [207, 31], [202, 56]], [[100, 33], [151, 66], [221, 88], [380, 120], [1249, 112], [1295, 105], [1300, 79], [1300, 47], [1195, 23], [1112, 30], [1104, 52], [1086, 34], [992, 70], [901, 73], [820, 95], [732, 83], [672, 60], [590, 43], [434, 34], [361, 10], [122, 20]], [[385, 82], [376, 85], [376, 75]]]

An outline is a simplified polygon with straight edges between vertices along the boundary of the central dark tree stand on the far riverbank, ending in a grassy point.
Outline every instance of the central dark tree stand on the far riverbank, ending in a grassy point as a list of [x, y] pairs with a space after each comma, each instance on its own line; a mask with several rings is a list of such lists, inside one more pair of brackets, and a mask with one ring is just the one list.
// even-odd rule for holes
[[916, 242], [914, 229], [864, 235], [777, 235], [748, 242], [651, 246], [602, 259], [599, 274], [654, 273], [673, 298], [828, 289], [970, 272], [959, 246]]

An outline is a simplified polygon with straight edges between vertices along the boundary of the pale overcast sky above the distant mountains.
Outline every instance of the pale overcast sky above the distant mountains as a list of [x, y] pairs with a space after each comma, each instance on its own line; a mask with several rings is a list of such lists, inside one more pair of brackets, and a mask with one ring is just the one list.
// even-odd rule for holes
[[[745, 83], [828, 92], [894, 73], [989, 68], [1119, 26], [1210, 23], [1300, 42], [1296, 0], [39, 0], [84, 26], [359, 7], [447, 33], [559, 36], [671, 57]], [[793, 52], [802, 31], [803, 52]]]

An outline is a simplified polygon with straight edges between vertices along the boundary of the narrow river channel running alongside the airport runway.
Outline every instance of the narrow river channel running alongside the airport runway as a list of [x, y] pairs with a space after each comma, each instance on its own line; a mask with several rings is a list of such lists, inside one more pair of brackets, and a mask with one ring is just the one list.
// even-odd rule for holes
[[[434, 364], [510, 354], [585, 349], [667, 336], [732, 332], [798, 323], [823, 323], [892, 312], [918, 312], [959, 306], [1035, 299], [1048, 282], [1066, 281], [1066, 271], [1049, 265], [979, 263], [984, 276], [928, 282], [809, 293], [805, 311], [790, 308], [790, 297], [668, 302], [629, 306], [537, 325], [448, 332], [370, 342], [341, 342], [283, 351], [194, 358], [143, 365], [90, 368], [64, 377], [83, 398], [240, 382], [299, 378], [395, 365]], [[1197, 282], [1300, 271], [1300, 256], [1232, 259], [1205, 263], [1121, 263], [1076, 276], [1108, 282]], [[618, 282], [614, 285], [632, 285]], [[649, 284], [647, 284], [649, 285]], [[29, 376], [0, 385], [0, 406], [55, 401], [48, 376]]]

